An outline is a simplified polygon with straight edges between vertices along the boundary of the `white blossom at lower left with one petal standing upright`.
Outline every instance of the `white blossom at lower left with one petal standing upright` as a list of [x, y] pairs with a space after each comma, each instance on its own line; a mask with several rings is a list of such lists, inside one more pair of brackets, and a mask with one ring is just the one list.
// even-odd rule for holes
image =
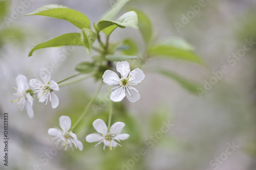
[[65, 147], [65, 151], [67, 151], [68, 146], [70, 146], [70, 148], [73, 151], [72, 144], [75, 145], [76, 149], [78, 148], [80, 151], [82, 151], [82, 148], [83, 148], [82, 142], [77, 140], [76, 134], [69, 131], [69, 129], [71, 127], [70, 117], [69, 116], [60, 116], [59, 117], [59, 125], [62, 130], [60, 130], [59, 128], [50, 128], [48, 130], [48, 134], [53, 136], [53, 138], [51, 138], [51, 140], [56, 140], [56, 144], [58, 144], [60, 142], [61, 147]]

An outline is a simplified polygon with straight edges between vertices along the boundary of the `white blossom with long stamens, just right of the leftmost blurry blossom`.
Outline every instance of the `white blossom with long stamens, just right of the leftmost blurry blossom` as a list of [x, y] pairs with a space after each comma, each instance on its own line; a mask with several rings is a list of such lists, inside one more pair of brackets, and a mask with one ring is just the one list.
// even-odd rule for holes
[[39, 102], [45, 102], [46, 105], [49, 102], [52, 103], [52, 108], [56, 108], [59, 105], [59, 99], [57, 95], [52, 92], [53, 90], [58, 91], [59, 86], [56, 82], [51, 79], [51, 74], [46, 68], [40, 69], [40, 72], [44, 72], [41, 76], [41, 80], [31, 79], [29, 85], [32, 87], [34, 93], [37, 93], [37, 99]]

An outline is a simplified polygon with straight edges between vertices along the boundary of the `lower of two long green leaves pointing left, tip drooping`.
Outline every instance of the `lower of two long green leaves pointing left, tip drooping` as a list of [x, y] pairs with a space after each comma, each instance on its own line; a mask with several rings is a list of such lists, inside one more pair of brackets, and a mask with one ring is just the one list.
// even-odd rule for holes
[[43, 42], [36, 45], [29, 53], [29, 57], [32, 56], [34, 51], [39, 50], [41, 48], [57, 47], [62, 45], [84, 45], [80, 37], [81, 37], [80, 33], [68, 33], [68, 34], [60, 35], [47, 42]]

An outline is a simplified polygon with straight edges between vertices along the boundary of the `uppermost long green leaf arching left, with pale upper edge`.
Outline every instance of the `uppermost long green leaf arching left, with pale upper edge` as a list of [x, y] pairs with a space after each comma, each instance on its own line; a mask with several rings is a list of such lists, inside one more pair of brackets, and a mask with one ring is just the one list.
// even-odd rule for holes
[[49, 16], [53, 18], [67, 20], [79, 29], [89, 29], [91, 26], [91, 21], [86, 15], [62, 5], [45, 5], [25, 16], [30, 15]]

